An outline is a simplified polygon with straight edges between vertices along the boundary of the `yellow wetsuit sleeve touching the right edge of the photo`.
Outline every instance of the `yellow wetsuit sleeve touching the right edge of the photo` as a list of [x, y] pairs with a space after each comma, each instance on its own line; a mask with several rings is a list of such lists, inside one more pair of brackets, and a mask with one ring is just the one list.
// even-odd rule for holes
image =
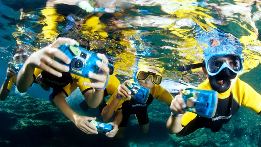
[[[250, 85], [238, 79], [239, 94], [238, 102], [240, 105], [252, 109], [255, 113], [261, 114], [261, 96]], [[236, 97], [235, 97], [236, 98]]]

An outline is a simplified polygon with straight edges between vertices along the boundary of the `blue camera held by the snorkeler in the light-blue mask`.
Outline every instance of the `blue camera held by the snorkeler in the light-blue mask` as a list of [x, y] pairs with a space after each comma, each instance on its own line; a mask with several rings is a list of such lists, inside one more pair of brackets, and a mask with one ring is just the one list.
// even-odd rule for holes
[[187, 104], [187, 108], [184, 110], [207, 118], [215, 116], [218, 102], [218, 93], [216, 91], [186, 88], [182, 93]]

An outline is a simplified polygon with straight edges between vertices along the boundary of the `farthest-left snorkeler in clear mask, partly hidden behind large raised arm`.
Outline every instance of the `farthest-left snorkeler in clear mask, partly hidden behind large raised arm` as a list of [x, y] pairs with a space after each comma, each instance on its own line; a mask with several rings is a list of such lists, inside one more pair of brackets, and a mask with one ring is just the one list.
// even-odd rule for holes
[[[22, 67], [22, 65], [25, 63], [25, 61], [29, 57], [29, 54], [27, 54], [21, 48], [22, 48], [22, 45], [16, 46], [16, 48], [14, 49], [14, 53], [13, 53], [13, 62], [8, 63], [8, 68], [6, 71], [6, 78], [0, 89], [1, 101], [6, 100], [6, 97], [8, 96], [11, 88], [13, 87], [13, 85], [16, 85], [17, 74], [18, 74], [20, 68]], [[13, 69], [11, 68], [11, 66], [13, 66]], [[39, 78], [39, 77], [37, 77], [37, 78]], [[37, 82], [33, 81], [33, 83], [37, 83]], [[32, 84], [30, 86], [32, 86]], [[44, 90], [49, 91], [48, 87], [45, 84], [40, 84], [40, 85]]]

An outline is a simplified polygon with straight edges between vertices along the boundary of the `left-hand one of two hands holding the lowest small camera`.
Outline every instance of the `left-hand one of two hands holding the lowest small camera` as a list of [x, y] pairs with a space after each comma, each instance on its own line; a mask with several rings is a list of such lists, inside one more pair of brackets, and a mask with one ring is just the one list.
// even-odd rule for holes
[[93, 126], [89, 121], [96, 120], [96, 117], [87, 117], [78, 115], [75, 118], [75, 125], [77, 128], [87, 134], [98, 134], [97, 128]]

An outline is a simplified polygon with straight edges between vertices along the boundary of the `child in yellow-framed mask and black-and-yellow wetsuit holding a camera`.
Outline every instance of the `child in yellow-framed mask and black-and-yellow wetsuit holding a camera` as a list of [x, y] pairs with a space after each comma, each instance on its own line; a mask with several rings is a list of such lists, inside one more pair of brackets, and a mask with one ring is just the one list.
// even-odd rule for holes
[[115, 112], [114, 120], [119, 124], [119, 132], [117, 134], [119, 138], [124, 137], [125, 129], [131, 114], [135, 114], [141, 132], [146, 134], [149, 131], [147, 108], [151, 102], [154, 99], [157, 99], [167, 105], [170, 105], [173, 100], [173, 96], [159, 85], [162, 81], [162, 75], [156, 68], [142, 68], [134, 74], [137, 76], [136, 81], [138, 81], [139, 85], [149, 89], [150, 91], [146, 103], [141, 103], [131, 98], [131, 92], [127, 89], [126, 84], [131, 84], [135, 80], [130, 79], [129, 81], [125, 81], [123, 84], [119, 85], [115, 97], [111, 97], [107, 101], [107, 106], [104, 107], [101, 114], [102, 120], [108, 121]]

